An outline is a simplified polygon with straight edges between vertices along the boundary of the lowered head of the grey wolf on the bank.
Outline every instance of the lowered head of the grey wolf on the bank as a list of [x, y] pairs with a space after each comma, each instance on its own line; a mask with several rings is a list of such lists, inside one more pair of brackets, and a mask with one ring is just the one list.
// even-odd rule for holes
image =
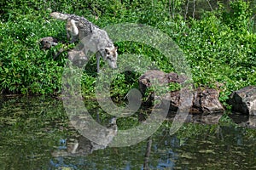
[[117, 64], [116, 64], [117, 58], [118, 58], [117, 47], [105, 48], [105, 57], [104, 57], [104, 59], [108, 61], [108, 65], [112, 69], [117, 68]]

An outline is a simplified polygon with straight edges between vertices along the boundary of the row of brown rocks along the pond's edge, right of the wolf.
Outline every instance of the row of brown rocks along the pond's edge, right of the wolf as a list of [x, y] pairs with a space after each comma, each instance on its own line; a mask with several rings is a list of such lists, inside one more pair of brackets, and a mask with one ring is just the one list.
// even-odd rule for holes
[[[186, 82], [187, 77], [180, 76], [177, 73], [165, 73], [158, 70], [150, 70], [143, 74], [139, 78], [139, 87], [142, 94], [145, 93], [148, 88], [152, 87], [154, 82], [157, 82], [160, 87], [163, 85], [170, 85], [171, 83], [183, 84]], [[187, 89], [183, 89], [186, 93]], [[166, 94], [161, 96], [156, 96], [154, 92], [148, 94], [147, 105], [152, 105], [154, 99], [161, 99], [162, 103], [170, 102], [170, 111], [177, 111], [178, 108], [183, 107], [182, 103], [191, 103], [189, 113], [191, 114], [212, 114], [224, 112], [224, 106], [218, 100], [219, 91], [214, 88], [195, 88], [188, 93], [193, 95], [192, 103], [189, 101], [184, 102], [181, 99], [180, 90], [176, 91], [166, 91]], [[191, 100], [191, 99], [190, 99]], [[241, 88], [230, 95], [228, 103], [232, 105], [232, 111], [239, 114], [256, 116], [256, 86], [248, 86], [246, 88]]]

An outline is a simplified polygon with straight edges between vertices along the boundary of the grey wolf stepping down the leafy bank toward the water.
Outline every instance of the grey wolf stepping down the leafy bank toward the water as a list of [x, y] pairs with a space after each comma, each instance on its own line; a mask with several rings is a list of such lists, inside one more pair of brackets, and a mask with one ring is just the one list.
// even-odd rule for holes
[[[53, 12], [51, 17], [57, 20], [66, 20], [67, 39], [71, 43], [79, 41], [83, 44], [83, 50], [80, 54], [88, 54], [87, 52], [96, 53], [97, 71], [100, 71], [100, 57], [108, 61], [108, 65], [117, 68], [117, 48], [108, 37], [108, 33], [98, 26], [86, 20], [84, 17], [75, 14], [62, 14]], [[75, 54], [75, 53], [69, 53]]]

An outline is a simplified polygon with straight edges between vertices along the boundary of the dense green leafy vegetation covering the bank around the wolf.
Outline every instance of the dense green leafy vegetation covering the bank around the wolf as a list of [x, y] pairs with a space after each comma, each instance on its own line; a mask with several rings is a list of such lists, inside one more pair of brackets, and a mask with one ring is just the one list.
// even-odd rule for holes
[[[183, 17], [187, 4], [184, 0], [7, 0], [0, 4], [1, 94], [61, 93], [67, 53], [53, 59], [61, 47], [44, 51], [38, 43], [40, 38], [48, 36], [67, 42], [65, 23], [49, 17], [53, 11], [83, 15], [102, 28], [129, 22], [160, 29], [183, 49], [195, 86], [221, 88], [220, 100], [224, 104], [233, 90], [256, 84], [255, 9], [242, 0], [231, 1], [230, 8], [219, 3], [211, 12], [203, 12], [200, 19]], [[153, 48], [137, 42], [117, 42], [116, 45], [119, 54], [140, 54], [153, 60], [160, 70], [174, 71]], [[124, 99], [131, 88], [138, 86], [139, 76], [138, 72], [129, 71], [119, 74], [111, 87], [113, 97]], [[95, 58], [86, 65], [81, 83], [84, 97], [94, 98]]]

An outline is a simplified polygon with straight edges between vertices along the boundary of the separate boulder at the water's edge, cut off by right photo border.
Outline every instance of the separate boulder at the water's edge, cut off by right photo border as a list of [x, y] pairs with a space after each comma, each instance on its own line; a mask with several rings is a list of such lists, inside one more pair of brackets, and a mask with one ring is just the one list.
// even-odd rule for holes
[[248, 86], [233, 92], [228, 103], [232, 105], [232, 111], [256, 116], [256, 87]]

